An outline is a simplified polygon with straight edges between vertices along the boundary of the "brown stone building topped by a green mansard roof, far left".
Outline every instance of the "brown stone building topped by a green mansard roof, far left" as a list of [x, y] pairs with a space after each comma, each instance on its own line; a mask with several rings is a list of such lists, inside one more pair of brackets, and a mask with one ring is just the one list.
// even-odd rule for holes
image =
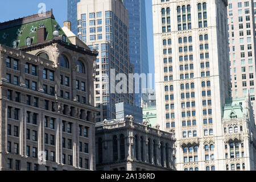
[[0, 170], [96, 169], [98, 53], [73, 45], [52, 11], [2, 23], [0, 35]]

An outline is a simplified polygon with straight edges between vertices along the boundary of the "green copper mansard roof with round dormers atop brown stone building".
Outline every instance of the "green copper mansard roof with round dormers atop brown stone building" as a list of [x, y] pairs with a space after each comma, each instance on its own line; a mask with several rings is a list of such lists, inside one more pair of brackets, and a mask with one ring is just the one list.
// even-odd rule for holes
[[[54, 16], [47, 16], [43, 18], [34, 18], [34, 16], [28, 16], [26, 18], [13, 20], [0, 24], [0, 43], [11, 47], [14, 40], [18, 41], [18, 48], [26, 46], [26, 38], [32, 38], [32, 44], [38, 43], [38, 28], [44, 26], [47, 32], [47, 40], [53, 38], [53, 31], [57, 30], [59, 35], [65, 35], [59, 24], [56, 22]], [[23, 23], [27, 22], [27, 23]], [[67, 36], [66, 36], [67, 37]], [[71, 43], [67, 38], [67, 42]]]

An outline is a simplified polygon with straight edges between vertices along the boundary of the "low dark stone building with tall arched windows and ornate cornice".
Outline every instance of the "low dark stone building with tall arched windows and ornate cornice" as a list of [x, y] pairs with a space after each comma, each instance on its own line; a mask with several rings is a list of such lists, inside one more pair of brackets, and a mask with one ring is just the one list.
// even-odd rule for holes
[[96, 124], [96, 163], [100, 171], [175, 170], [174, 134], [135, 123], [134, 118]]

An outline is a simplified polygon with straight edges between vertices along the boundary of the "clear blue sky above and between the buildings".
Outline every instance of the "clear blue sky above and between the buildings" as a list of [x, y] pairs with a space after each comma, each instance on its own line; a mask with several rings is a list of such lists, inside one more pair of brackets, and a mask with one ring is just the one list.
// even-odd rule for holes
[[[55, 19], [63, 26], [63, 22], [67, 20], [67, 0], [8, 0], [1, 3], [0, 6], [0, 22], [22, 18], [24, 16], [42, 13], [44, 3], [46, 10], [53, 10]], [[39, 7], [38, 7], [39, 6]], [[11, 9], [10, 9], [11, 7]], [[11, 12], [10, 12], [11, 11]], [[153, 22], [152, 22], [152, 1], [146, 0], [146, 17], [147, 17], [147, 41], [148, 41], [148, 65], [149, 72], [155, 73], [154, 67], [154, 40], [153, 40]], [[154, 82], [154, 81], [153, 81]], [[152, 85], [154, 88], [154, 85]]]

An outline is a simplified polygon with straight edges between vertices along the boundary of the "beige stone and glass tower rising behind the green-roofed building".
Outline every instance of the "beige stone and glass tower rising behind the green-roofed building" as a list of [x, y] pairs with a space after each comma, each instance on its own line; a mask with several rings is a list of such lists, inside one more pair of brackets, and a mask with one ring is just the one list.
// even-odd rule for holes
[[116, 103], [134, 105], [133, 86], [123, 88], [130, 94], [112, 93], [115, 81], [110, 84], [109, 79], [118, 73], [124, 73], [127, 78], [133, 73], [129, 61], [128, 11], [119, 0], [81, 0], [77, 3], [77, 19], [79, 38], [100, 52], [94, 82], [95, 103], [101, 109], [97, 122], [115, 119]]

